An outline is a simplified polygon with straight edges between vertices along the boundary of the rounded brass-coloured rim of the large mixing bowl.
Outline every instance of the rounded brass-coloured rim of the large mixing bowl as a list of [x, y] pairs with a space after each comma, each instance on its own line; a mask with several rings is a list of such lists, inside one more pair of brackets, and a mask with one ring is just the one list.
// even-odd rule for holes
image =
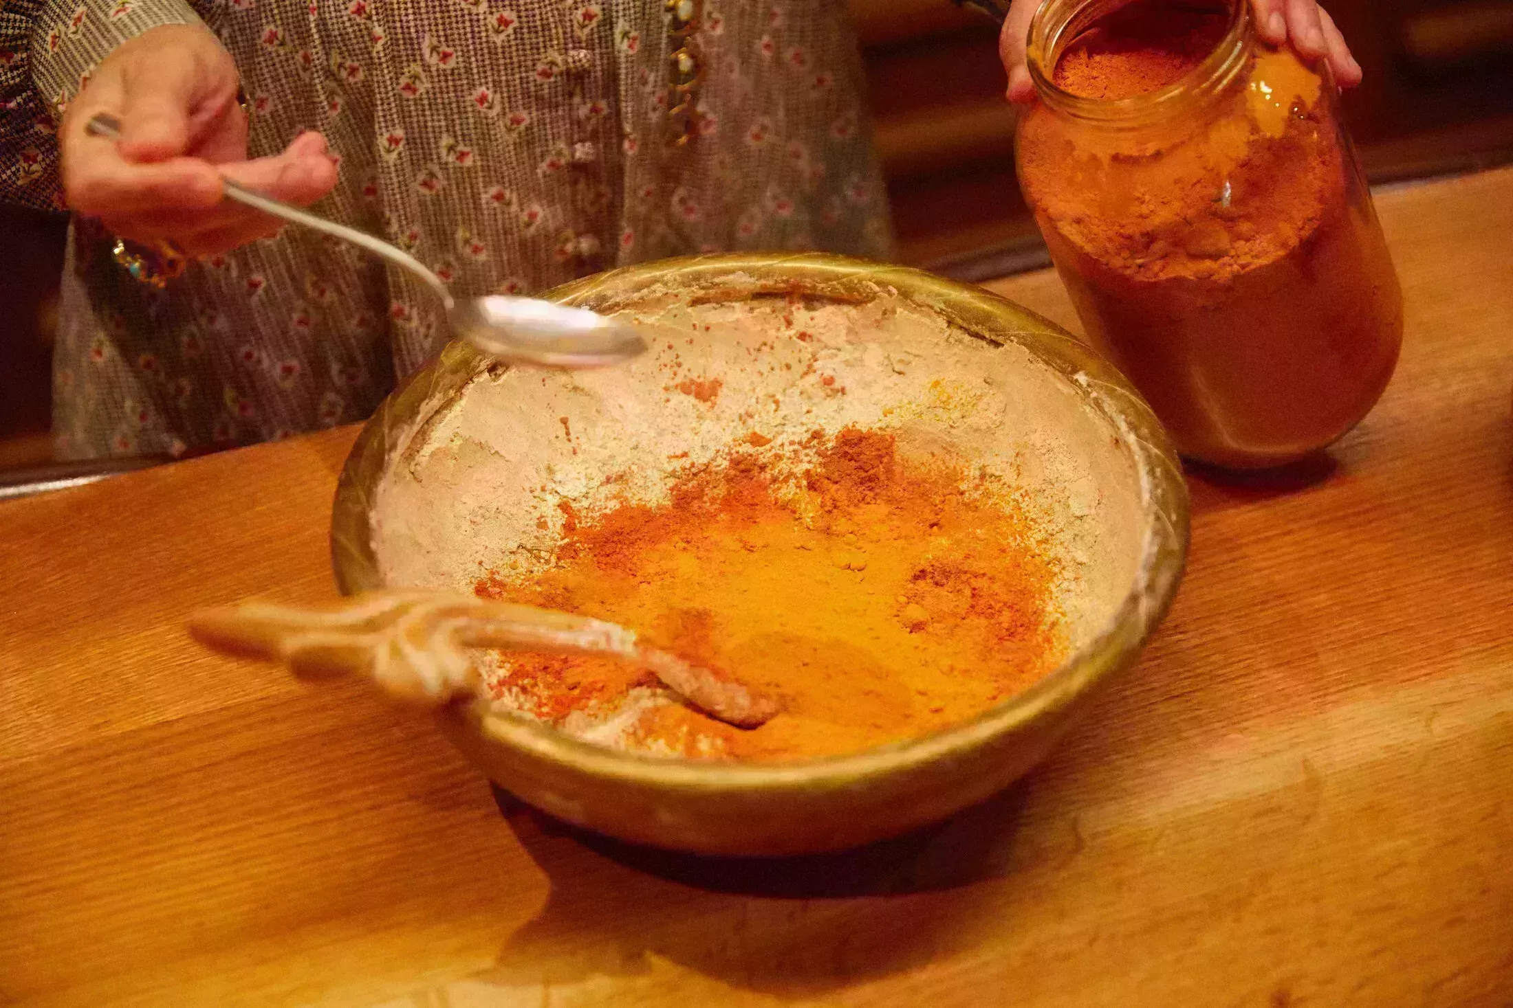
[[[1014, 342], [1083, 388], [1129, 452], [1141, 490], [1144, 549], [1130, 589], [1109, 623], [1055, 671], [968, 721], [930, 734], [806, 760], [734, 763], [611, 750], [569, 736], [525, 715], [458, 701], [443, 716], [461, 716], [487, 741], [537, 760], [570, 766], [604, 781], [681, 792], [770, 792], [847, 787], [858, 778], [934, 765], [994, 739], [1065, 713], [1085, 694], [1133, 663], [1165, 617], [1186, 564], [1188, 487], [1176, 449], [1148, 404], [1080, 339], [983, 287], [924, 271], [823, 252], [717, 254], [655, 260], [576, 280], [540, 295], [563, 304], [602, 307], [645, 295], [669, 280], [690, 286], [740, 284], [752, 293], [865, 301], [900, 296], [946, 317], [967, 334], [1002, 346]], [[363, 425], [337, 481], [331, 508], [331, 565], [342, 594], [380, 588], [369, 523], [372, 491], [390, 455], [490, 364], [454, 340], [413, 372]], [[430, 413], [427, 413], [430, 411]]]

